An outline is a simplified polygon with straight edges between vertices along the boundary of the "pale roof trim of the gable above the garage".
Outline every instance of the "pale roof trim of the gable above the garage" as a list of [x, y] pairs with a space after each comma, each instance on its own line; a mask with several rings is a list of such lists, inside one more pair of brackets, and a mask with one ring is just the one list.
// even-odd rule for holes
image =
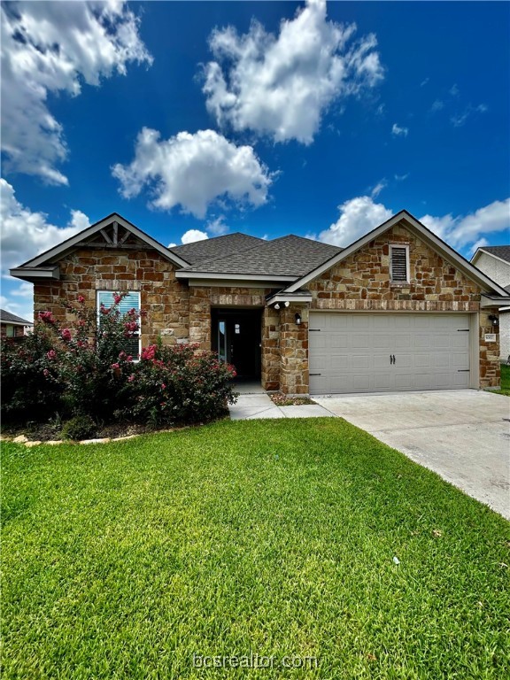
[[506, 290], [498, 286], [497, 283], [491, 281], [491, 279], [488, 276], [486, 276], [485, 274], [483, 274], [483, 272], [474, 267], [474, 265], [468, 262], [467, 259], [463, 258], [457, 251], [454, 251], [453, 248], [448, 245], [448, 243], [444, 243], [442, 239], [440, 239], [438, 236], [436, 236], [436, 234], [430, 231], [429, 228], [425, 227], [424, 224], [421, 224], [420, 220], [417, 220], [415, 217], [413, 217], [411, 213], [408, 213], [406, 210], [401, 210], [399, 213], [396, 213], [395, 215], [393, 215], [393, 217], [390, 217], [390, 220], [386, 220], [385, 222], [383, 222], [383, 224], [379, 225], [379, 227], [372, 229], [372, 231], [369, 231], [365, 236], [361, 236], [361, 238], [359, 238], [358, 241], [355, 241], [351, 245], [347, 246], [346, 248], [344, 248], [343, 251], [337, 253], [332, 258], [328, 259], [326, 262], [321, 264], [319, 267], [316, 267], [315, 269], [313, 269], [313, 271], [310, 271], [309, 273], [299, 278], [298, 281], [291, 283], [290, 286], [286, 289], [286, 292], [291, 293], [295, 292], [300, 288], [303, 288], [303, 286], [305, 286], [306, 283], [312, 281], [317, 276], [320, 276], [330, 267], [334, 267], [338, 262], [341, 262], [343, 259], [348, 258], [350, 255], [352, 255], [352, 253], [359, 251], [360, 248], [363, 248], [365, 245], [367, 245], [367, 243], [372, 241], [377, 236], [380, 236], [391, 227], [398, 224], [398, 222], [404, 222], [406, 228], [408, 228], [416, 235], [421, 236], [421, 238], [426, 243], [428, 243], [428, 245], [431, 248], [439, 252], [444, 257], [444, 259], [447, 259], [448, 261], [452, 262], [452, 264], [455, 267], [458, 267], [461, 272], [466, 274], [469, 279], [478, 283], [483, 290], [496, 292], [498, 295], [506, 297], [507, 295]]

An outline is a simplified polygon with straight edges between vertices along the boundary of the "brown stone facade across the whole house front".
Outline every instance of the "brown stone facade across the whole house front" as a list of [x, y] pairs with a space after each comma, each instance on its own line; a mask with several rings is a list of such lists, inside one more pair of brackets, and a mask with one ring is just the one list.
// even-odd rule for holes
[[[409, 246], [410, 282], [390, 281], [390, 244]], [[212, 346], [212, 309], [259, 308], [262, 312], [261, 378], [267, 390], [286, 394], [307, 394], [308, 312], [462, 312], [480, 313], [480, 386], [499, 384], [499, 346], [486, 343], [494, 333], [489, 314], [481, 310], [481, 290], [436, 251], [414, 236], [402, 223], [324, 272], [307, 288], [310, 305], [267, 307], [270, 288], [189, 286], [176, 279], [175, 267], [146, 243], [131, 239], [129, 247], [86, 248], [73, 251], [58, 261], [60, 280], [35, 285], [35, 318], [51, 311], [60, 321], [71, 321], [61, 300], [82, 295], [90, 308], [96, 308], [97, 290], [139, 291], [141, 307], [147, 312], [142, 321], [142, 344], [154, 343], [161, 336], [165, 344], [196, 343], [201, 349]], [[302, 323], [296, 324], [296, 314]], [[498, 337], [498, 336], [497, 336]]]

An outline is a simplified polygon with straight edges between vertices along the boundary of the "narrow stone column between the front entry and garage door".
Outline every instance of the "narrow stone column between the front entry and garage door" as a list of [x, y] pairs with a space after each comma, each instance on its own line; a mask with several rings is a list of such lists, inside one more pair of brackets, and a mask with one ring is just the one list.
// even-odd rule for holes
[[[296, 314], [301, 324], [296, 323]], [[280, 390], [289, 395], [307, 395], [308, 305], [290, 305], [280, 312]]]

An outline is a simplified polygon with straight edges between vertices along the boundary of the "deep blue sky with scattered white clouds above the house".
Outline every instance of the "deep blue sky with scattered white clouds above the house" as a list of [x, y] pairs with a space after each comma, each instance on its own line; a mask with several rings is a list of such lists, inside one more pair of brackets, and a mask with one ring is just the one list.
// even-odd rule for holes
[[406, 208], [508, 243], [510, 4], [2, 2], [8, 267], [118, 212], [346, 245]]

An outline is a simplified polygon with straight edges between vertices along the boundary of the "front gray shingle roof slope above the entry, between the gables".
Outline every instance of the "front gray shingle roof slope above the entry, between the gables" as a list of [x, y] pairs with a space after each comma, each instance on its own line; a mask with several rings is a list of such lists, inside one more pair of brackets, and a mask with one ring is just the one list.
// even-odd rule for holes
[[[336, 245], [312, 241], [302, 236], [290, 235], [275, 238], [274, 241], [258, 241], [251, 248], [224, 254], [223, 257], [201, 260], [182, 271], [298, 277], [342, 251]], [[182, 257], [185, 255], [182, 254]]]

